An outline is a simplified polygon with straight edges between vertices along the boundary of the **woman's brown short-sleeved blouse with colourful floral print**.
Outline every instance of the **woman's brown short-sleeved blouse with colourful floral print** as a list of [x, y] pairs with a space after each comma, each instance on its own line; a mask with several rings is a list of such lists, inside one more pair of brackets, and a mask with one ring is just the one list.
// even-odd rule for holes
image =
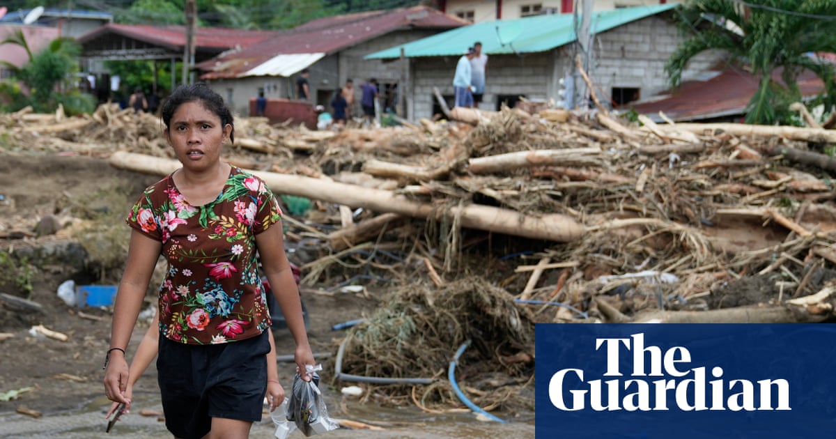
[[215, 201], [203, 206], [186, 202], [171, 175], [145, 189], [127, 222], [162, 242], [168, 261], [160, 286], [161, 334], [205, 345], [268, 329], [255, 236], [281, 217], [264, 181], [235, 166]]

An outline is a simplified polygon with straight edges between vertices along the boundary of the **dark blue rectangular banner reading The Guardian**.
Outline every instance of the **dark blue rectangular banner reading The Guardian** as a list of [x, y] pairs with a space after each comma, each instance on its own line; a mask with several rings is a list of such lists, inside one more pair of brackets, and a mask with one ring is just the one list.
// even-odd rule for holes
[[836, 436], [833, 324], [537, 324], [536, 436]]

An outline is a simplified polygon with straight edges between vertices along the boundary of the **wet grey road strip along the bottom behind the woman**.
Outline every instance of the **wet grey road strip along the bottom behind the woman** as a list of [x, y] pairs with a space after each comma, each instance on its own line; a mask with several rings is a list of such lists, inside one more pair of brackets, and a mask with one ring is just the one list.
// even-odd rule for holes
[[[119, 439], [171, 439], [164, 422], [156, 416], [140, 416], [140, 410], [162, 411], [158, 395], [135, 395], [133, 409], [122, 416], [110, 434], [104, 432], [107, 421], [104, 415], [110, 401], [104, 398], [90, 401], [78, 411], [46, 414], [38, 419], [10, 413], [0, 415], [0, 438], [3, 439], [94, 439], [118, 437]], [[333, 399], [327, 400], [332, 404]], [[333, 402], [336, 404], [336, 401]], [[339, 403], [344, 413], [334, 417], [363, 421], [384, 428], [383, 431], [351, 430], [340, 428], [322, 435], [323, 439], [347, 439], [363, 436], [364, 439], [530, 439], [534, 437], [534, 417], [505, 423], [477, 421], [469, 412], [433, 415], [416, 407], [380, 407], [360, 405], [354, 401]], [[500, 416], [501, 417], [501, 416]], [[272, 439], [275, 426], [270, 416], [252, 426], [251, 439]], [[290, 438], [304, 437], [293, 432]]]

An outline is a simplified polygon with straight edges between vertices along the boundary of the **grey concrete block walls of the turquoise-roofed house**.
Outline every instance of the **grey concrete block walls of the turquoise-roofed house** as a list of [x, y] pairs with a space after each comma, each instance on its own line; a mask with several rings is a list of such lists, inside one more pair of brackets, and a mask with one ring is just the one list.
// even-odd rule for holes
[[[599, 100], [609, 101], [614, 87], [639, 89], [640, 97], [668, 88], [665, 62], [682, 41], [675, 25], [661, 16], [644, 18], [600, 33], [594, 43], [589, 74]], [[560, 101], [559, 79], [573, 69], [571, 47], [521, 55], [490, 55], [482, 110], [497, 110], [500, 97], [521, 95], [528, 100]], [[411, 59], [410, 120], [431, 117], [433, 87], [451, 95], [457, 57]], [[720, 65], [721, 53], [701, 54], [691, 61], [685, 78], [696, 77]]]

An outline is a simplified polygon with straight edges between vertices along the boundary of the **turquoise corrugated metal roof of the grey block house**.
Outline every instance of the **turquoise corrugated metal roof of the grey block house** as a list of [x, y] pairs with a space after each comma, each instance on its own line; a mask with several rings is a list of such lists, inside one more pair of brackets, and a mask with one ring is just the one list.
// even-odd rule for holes
[[[592, 31], [594, 33], [604, 32], [625, 23], [663, 13], [677, 6], [679, 6], [678, 3], [669, 3], [598, 11], [593, 13]], [[572, 43], [575, 39], [577, 37], [574, 32], [573, 14], [539, 15], [537, 17], [471, 24], [418, 41], [387, 48], [366, 55], [364, 59], [400, 58], [400, 48], [404, 48], [407, 58], [460, 55], [476, 41], [482, 43], [482, 53], [484, 54], [536, 53]]]

